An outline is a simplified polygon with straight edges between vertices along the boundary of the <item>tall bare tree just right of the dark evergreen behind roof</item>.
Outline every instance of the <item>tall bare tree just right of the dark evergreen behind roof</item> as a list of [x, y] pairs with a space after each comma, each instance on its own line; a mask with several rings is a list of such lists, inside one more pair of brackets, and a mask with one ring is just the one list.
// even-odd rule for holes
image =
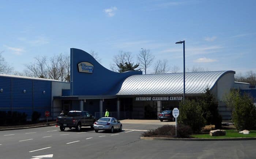
[[147, 74], [147, 68], [152, 64], [155, 57], [150, 54], [150, 50], [147, 49], [141, 49], [138, 54], [138, 62], [140, 64], [140, 68], [145, 71], [145, 74]]

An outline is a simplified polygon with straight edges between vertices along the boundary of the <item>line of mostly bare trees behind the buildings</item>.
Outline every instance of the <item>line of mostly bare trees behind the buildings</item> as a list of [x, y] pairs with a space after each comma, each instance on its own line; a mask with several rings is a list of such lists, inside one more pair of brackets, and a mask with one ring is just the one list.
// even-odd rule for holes
[[[18, 72], [12, 71], [13, 68], [8, 65], [2, 56], [3, 51], [0, 51], [0, 74], [13, 74], [27, 77], [37, 78], [49, 78], [54, 80], [60, 80], [64, 82], [70, 82], [70, 56], [68, 53], [60, 53], [53, 55], [52, 57], [38, 56], [34, 58], [34, 61], [25, 64], [25, 70]], [[89, 52], [99, 63], [101, 59], [98, 53], [94, 50]], [[135, 62], [136, 61], [136, 62]], [[152, 66], [151, 72], [149, 72], [150, 66]], [[149, 49], [141, 48], [138, 54], [135, 56], [128, 51], [119, 51], [114, 55], [110, 62], [110, 69], [116, 72], [125, 72], [130, 70], [141, 70], [144, 74], [162, 74], [162, 73], [178, 73], [183, 72], [177, 65], [170, 66], [167, 59], [159, 59], [155, 61], [155, 56]], [[186, 68], [186, 72], [201, 72], [209, 71], [207, 68], [200, 66], [193, 66], [192, 68]], [[236, 74], [235, 81], [246, 82], [252, 85], [256, 85], [256, 73], [254, 71], [248, 71], [244, 75]]]

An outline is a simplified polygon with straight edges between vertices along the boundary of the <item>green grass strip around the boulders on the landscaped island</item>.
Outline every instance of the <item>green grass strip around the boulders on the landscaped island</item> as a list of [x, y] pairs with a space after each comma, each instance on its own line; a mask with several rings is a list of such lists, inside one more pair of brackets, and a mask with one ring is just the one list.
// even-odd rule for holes
[[245, 135], [238, 133], [235, 129], [225, 129], [226, 136], [210, 136], [208, 134], [193, 134], [191, 135], [192, 138], [232, 138], [232, 137], [256, 137], [256, 130], [250, 130], [250, 133]]

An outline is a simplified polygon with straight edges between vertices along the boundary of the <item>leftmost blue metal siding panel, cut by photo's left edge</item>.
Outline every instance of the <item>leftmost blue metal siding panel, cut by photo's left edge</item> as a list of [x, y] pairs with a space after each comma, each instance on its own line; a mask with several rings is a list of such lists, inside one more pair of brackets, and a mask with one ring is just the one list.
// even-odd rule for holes
[[11, 109], [11, 78], [0, 77], [0, 111]]

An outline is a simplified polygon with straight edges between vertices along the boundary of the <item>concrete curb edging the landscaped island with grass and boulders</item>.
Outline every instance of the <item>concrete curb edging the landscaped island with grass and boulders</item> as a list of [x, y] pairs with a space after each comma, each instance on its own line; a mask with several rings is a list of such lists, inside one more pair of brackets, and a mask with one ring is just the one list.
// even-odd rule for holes
[[176, 140], [176, 141], [223, 141], [223, 140], [256, 140], [256, 137], [236, 137], [236, 138], [168, 138], [168, 137], [140, 137], [142, 140]]

